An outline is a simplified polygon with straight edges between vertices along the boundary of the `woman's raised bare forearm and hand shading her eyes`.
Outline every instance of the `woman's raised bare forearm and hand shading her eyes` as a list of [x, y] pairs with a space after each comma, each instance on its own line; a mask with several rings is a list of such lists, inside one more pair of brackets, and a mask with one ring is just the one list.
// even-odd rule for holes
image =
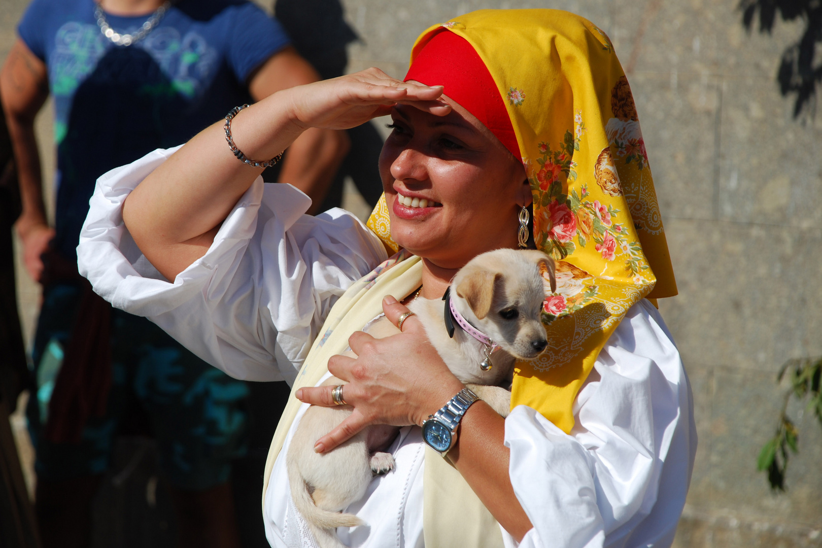
[[[248, 158], [272, 158], [309, 127], [344, 129], [390, 111], [397, 101], [444, 115], [441, 87], [404, 84], [378, 69], [272, 94], [232, 122]], [[183, 145], [128, 196], [122, 217], [137, 246], [167, 279], [205, 254], [219, 224], [261, 173], [234, 158], [223, 122]]]

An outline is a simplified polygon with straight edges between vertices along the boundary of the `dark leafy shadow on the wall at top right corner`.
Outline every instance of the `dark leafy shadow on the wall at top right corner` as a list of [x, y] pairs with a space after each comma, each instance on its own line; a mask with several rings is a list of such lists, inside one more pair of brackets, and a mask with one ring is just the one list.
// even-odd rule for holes
[[805, 22], [805, 31], [796, 44], [782, 54], [777, 81], [783, 96], [796, 94], [793, 117], [805, 112], [816, 113], [816, 86], [822, 83], [822, 2], [820, 0], [741, 0], [742, 25], [746, 30], [754, 26], [754, 16], [759, 15], [760, 32], [768, 34], [774, 28], [777, 13], [783, 21]]

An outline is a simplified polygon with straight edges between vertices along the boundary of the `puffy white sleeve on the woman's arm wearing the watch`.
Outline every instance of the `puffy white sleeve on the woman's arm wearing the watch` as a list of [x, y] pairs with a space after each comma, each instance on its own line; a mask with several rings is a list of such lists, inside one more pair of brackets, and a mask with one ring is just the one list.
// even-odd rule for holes
[[506, 419], [511, 483], [533, 524], [520, 548], [671, 546], [696, 430], [679, 352], [649, 302], [608, 339], [574, 412], [570, 435], [524, 405]]

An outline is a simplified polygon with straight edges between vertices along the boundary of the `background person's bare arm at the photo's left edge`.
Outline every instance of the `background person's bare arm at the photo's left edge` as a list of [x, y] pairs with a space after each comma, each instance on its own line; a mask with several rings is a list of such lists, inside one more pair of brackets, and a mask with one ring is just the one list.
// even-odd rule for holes
[[48, 227], [43, 204], [40, 156], [35, 138], [35, 116], [48, 97], [48, 73], [44, 62], [17, 39], [0, 72], [0, 96], [12, 137], [20, 181], [23, 210], [17, 219], [17, 234], [23, 242], [23, 261], [30, 276], [40, 279], [40, 260], [53, 230]]

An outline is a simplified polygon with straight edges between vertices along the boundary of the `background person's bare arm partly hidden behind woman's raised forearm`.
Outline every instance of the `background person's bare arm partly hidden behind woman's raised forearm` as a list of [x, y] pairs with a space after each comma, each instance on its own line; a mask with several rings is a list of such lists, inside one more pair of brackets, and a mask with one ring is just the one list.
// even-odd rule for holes
[[[251, 76], [248, 89], [255, 101], [295, 85], [318, 81], [320, 75], [294, 48], [284, 48], [263, 63]], [[310, 127], [293, 144], [283, 160], [279, 182], [287, 182], [311, 196], [308, 214], [319, 213], [319, 207], [334, 180], [339, 163], [349, 151], [344, 131]]]

